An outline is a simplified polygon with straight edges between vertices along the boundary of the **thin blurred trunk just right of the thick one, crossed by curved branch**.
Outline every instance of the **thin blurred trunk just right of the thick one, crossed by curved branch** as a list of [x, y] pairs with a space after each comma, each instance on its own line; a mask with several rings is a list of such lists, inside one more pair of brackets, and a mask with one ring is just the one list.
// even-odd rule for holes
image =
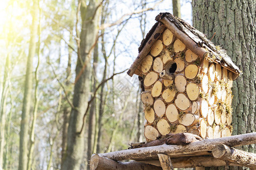
[[[92, 74], [92, 92], [96, 91], [97, 84], [97, 67], [98, 67], [98, 44], [96, 44], [93, 53], [93, 74]], [[95, 114], [96, 114], [96, 99], [92, 101], [90, 105], [89, 122], [88, 122], [88, 147], [87, 147], [87, 169], [90, 169], [90, 156], [92, 156], [92, 142], [94, 139], [94, 126], [95, 126]]]

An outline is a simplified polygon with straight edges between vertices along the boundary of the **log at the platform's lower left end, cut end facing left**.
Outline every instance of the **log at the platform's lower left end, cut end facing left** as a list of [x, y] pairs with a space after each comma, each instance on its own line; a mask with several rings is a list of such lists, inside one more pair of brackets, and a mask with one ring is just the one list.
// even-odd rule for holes
[[161, 170], [161, 167], [156, 167], [155, 165], [140, 163], [136, 161], [131, 162], [117, 162], [109, 158], [100, 156], [98, 154], [92, 155], [90, 159], [90, 170], [112, 170], [112, 169], [147, 169], [147, 170]]

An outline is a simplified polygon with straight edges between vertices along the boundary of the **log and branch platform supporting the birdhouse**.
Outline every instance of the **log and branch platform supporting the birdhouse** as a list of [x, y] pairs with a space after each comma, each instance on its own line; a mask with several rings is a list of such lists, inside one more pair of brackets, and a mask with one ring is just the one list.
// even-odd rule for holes
[[232, 148], [255, 143], [256, 133], [249, 133], [204, 139], [187, 145], [163, 144], [93, 154], [90, 159], [90, 169], [172, 169], [222, 165], [256, 169], [256, 154]]

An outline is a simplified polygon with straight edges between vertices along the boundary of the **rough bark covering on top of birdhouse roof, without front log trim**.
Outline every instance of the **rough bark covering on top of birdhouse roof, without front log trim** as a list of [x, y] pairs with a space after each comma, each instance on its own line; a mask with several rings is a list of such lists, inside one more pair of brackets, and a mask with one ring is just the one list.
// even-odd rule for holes
[[[194, 44], [196, 44], [196, 46], [201, 47], [200, 49], [204, 49], [205, 52], [207, 52], [206, 53], [207, 55], [200, 56], [201, 58], [207, 57], [208, 61], [218, 62], [222, 66], [232, 70], [234, 73], [242, 74], [242, 71], [233, 63], [232, 59], [228, 56], [228, 54], [226, 54], [226, 50], [222, 49], [220, 46], [214, 45], [212, 41], [207, 39], [207, 36], [204, 35], [204, 33], [198, 31], [196, 28], [192, 27], [190, 24], [188, 24], [184, 20], [176, 18], [174, 15], [168, 12], [160, 13], [159, 15], [156, 16], [155, 20], [157, 21], [157, 23], [155, 23], [154, 26], [147, 33], [145, 39], [142, 40], [141, 45], [139, 46], [139, 53], [141, 53], [142, 49], [145, 48], [145, 46], [148, 46], [148, 45], [152, 46], [152, 44], [147, 42], [148, 40], [150, 40], [150, 37], [152, 37], [152, 33], [154, 33], [155, 29], [157, 29], [158, 24], [162, 23], [167, 28], [173, 27], [173, 26], [176, 27], [174, 29], [181, 31], [184, 34], [184, 36], [188, 37], [188, 39], [191, 39], [193, 42], [195, 42]], [[167, 21], [167, 23], [171, 23], [171, 25], [173, 26], [166, 25], [166, 22], [164, 22], [163, 20]], [[193, 51], [193, 49], [191, 50]], [[138, 63], [135, 63], [135, 62], [138, 62], [137, 59], [134, 61], [133, 65], [135, 64], [138, 65]], [[140, 62], [141, 62], [141, 59], [140, 59]], [[130, 70], [128, 74], [130, 73]]]

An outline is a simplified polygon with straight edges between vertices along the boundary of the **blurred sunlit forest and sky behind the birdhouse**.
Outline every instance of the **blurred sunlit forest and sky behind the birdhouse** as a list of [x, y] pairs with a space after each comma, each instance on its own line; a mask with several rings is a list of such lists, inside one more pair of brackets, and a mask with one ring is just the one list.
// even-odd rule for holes
[[[180, 6], [192, 24], [192, 2]], [[144, 141], [126, 71], [166, 11], [170, 0], [1, 0], [0, 167], [87, 169], [93, 153]]]

